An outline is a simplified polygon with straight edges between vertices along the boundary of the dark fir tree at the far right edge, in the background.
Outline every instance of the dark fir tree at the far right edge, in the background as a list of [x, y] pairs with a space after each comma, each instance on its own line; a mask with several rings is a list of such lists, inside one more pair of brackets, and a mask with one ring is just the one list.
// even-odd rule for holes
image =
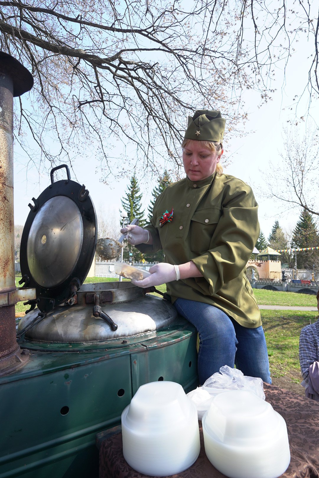
[[[306, 210], [301, 211], [296, 228], [293, 231], [292, 247], [306, 248], [318, 247], [319, 235], [316, 223], [312, 215]], [[306, 250], [297, 252], [297, 267], [299, 269], [310, 269], [319, 262], [318, 250]]]

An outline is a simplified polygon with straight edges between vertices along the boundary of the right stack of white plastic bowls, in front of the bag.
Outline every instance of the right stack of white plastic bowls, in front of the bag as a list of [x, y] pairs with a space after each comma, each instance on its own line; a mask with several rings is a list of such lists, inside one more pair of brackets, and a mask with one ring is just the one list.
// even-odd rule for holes
[[285, 420], [244, 390], [213, 398], [202, 418], [205, 453], [230, 478], [278, 478], [290, 463]]

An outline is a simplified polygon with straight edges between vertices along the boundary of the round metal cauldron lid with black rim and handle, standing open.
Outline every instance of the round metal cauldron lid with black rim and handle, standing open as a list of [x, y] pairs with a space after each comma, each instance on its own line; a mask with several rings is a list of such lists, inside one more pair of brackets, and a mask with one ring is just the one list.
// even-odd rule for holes
[[[61, 168], [67, 179], [54, 182]], [[36, 305], [47, 313], [85, 280], [96, 250], [96, 212], [85, 185], [70, 180], [66, 164], [52, 169], [51, 185], [32, 201], [21, 236], [21, 283], [36, 289]]]

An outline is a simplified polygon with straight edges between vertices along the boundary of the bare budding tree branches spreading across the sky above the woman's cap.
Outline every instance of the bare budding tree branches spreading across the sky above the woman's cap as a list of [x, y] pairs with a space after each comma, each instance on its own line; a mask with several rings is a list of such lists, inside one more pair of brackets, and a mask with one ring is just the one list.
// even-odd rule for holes
[[120, 141], [142, 170], [169, 157], [178, 174], [187, 114], [221, 109], [236, 133], [243, 90], [259, 91], [261, 103], [271, 98], [276, 66], [285, 70], [302, 36], [313, 45], [309, 102], [319, 94], [312, 3], [0, 0], [0, 48], [35, 80], [17, 111], [18, 141], [50, 166], [94, 151], [106, 177], [116, 174], [110, 149]]

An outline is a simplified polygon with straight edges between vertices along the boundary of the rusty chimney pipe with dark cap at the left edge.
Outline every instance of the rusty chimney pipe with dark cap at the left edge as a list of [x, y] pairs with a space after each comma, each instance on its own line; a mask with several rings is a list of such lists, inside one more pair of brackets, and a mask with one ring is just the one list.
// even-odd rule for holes
[[13, 97], [33, 86], [31, 73], [0, 52], [0, 375], [24, 365], [29, 355], [16, 340], [13, 218]]

